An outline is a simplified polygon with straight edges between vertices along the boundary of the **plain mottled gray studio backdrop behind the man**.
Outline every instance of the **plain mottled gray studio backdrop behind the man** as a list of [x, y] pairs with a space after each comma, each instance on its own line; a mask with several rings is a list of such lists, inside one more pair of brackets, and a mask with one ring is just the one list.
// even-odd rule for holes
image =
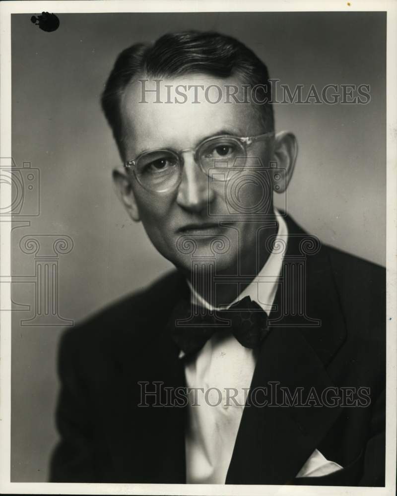
[[323, 242], [385, 263], [386, 14], [56, 13], [51, 33], [31, 14], [12, 16], [12, 154], [25, 203], [12, 232], [11, 480], [21, 482], [48, 477], [61, 318], [79, 321], [171, 268], [111, 183], [119, 156], [99, 97], [122, 49], [167, 31], [217, 30], [291, 87], [369, 84], [368, 105], [276, 105], [275, 118], [300, 145], [288, 211]]

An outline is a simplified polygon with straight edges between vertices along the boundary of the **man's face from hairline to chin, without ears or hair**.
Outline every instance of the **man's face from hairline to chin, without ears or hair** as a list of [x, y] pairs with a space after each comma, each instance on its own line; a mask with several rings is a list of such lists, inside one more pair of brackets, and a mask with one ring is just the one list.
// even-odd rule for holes
[[[216, 101], [217, 90], [210, 91], [207, 99], [202, 91], [198, 97], [188, 91], [185, 103], [175, 103], [175, 87], [180, 84], [204, 88], [217, 85], [222, 91], [227, 84], [241, 85], [237, 78], [195, 74], [164, 79], [160, 84], [162, 103], [156, 102], [154, 92], [146, 92], [147, 103], [143, 103], [141, 82], [131, 83], [121, 100], [126, 161], [147, 150], [195, 149], [202, 140], [216, 134], [254, 136], [268, 131], [251, 104], [239, 104], [233, 99], [225, 104], [225, 98], [218, 104], [210, 103]], [[171, 93], [167, 85], [171, 85]], [[145, 87], [156, 86], [149, 80]], [[242, 94], [238, 98], [243, 100]], [[173, 103], [166, 103], [170, 100]], [[272, 212], [272, 186], [264, 171], [270, 160], [271, 145], [270, 137], [249, 146], [246, 168], [238, 169], [234, 176], [229, 174], [231, 179], [226, 182], [217, 180], [220, 176], [208, 177], [195, 162], [192, 151], [183, 152], [181, 182], [170, 191], [148, 191], [132, 172], [124, 172], [131, 185], [127, 193], [125, 190], [124, 202], [132, 218], [142, 221], [155, 248], [185, 273], [190, 274], [192, 257], [213, 257], [214, 250], [217, 270], [234, 271], [239, 256], [257, 259], [257, 232], [266, 221], [265, 214]], [[258, 158], [263, 164], [262, 171], [258, 168]], [[220, 222], [230, 225], [222, 227]], [[214, 244], [215, 238], [219, 244]], [[188, 249], [192, 246], [187, 244], [188, 239], [194, 240], [193, 252]]]

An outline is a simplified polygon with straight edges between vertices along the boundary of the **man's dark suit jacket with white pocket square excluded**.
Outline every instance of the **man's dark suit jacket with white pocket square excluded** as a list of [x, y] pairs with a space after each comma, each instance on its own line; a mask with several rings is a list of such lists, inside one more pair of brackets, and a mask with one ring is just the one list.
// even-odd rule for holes
[[[302, 260], [306, 234], [291, 218], [286, 221], [283, 277], [291, 260]], [[342, 396], [340, 388], [366, 387], [370, 404], [246, 407], [226, 483], [382, 486], [385, 270], [325, 245], [306, 263], [299, 294], [306, 298], [308, 318], [293, 306], [282, 315], [286, 292], [280, 285], [251, 387], [279, 381], [292, 392], [321, 392], [335, 386]], [[52, 482], [186, 482], [186, 408], [137, 405], [138, 381], [185, 385], [167, 322], [187, 295], [184, 278], [172, 272], [64, 333], [56, 414], [61, 440], [51, 460]], [[302, 326], [308, 319], [321, 325]], [[316, 448], [343, 469], [295, 478]]]

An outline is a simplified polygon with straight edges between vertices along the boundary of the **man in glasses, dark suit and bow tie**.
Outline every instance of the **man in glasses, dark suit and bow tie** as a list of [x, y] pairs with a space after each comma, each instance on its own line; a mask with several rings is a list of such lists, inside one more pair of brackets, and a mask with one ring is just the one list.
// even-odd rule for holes
[[64, 334], [52, 481], [384, 484], [384, 270], [274, 208], [269, 88], [217, 33], [117, 59], [113, 178], [177, 270]]

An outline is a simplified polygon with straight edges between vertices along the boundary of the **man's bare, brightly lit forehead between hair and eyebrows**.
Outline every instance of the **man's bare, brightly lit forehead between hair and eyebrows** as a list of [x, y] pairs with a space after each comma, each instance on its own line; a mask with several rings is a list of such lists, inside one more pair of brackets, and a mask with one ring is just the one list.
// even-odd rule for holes
[[263, 132], [259, 113], [247, 103], [237, 77], [136, 78], [121, 97], [121, 117], [128, 153], [196, 146], [223, 131], [239, 136]]

